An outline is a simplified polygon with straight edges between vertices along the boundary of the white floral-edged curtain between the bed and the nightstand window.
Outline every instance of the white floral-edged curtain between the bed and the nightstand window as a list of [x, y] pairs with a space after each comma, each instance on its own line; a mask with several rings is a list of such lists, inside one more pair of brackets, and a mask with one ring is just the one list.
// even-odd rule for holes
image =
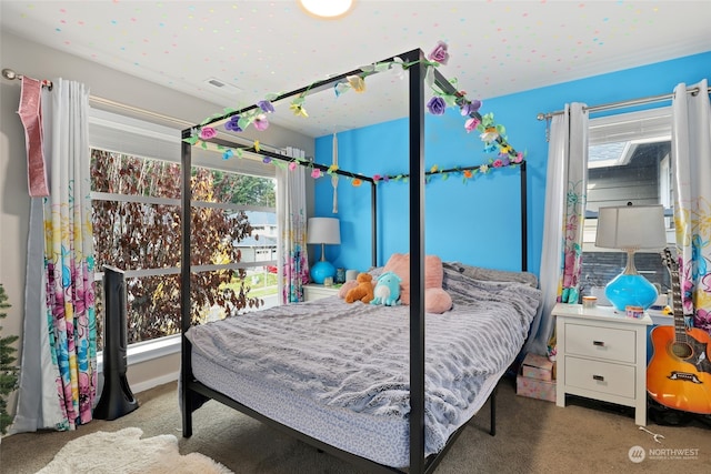
[[571, 103], [551, 120], [539, 271], [543, 302], [524, 353], [545, 354], [554, 344], [553, 306], [559, 301], [578, 302], [587, 182], [588, 112], [584, 104]]

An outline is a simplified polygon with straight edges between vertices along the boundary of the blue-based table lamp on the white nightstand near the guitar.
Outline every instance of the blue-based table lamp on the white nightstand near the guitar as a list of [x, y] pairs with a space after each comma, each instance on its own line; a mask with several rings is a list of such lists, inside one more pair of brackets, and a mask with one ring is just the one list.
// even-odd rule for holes
[[657, 301], [657, 289], [637, 272], [634, 252], [661, 250], [667, 246], [664, 208], [662, 205], [628, 205], [600, 208], [595, 245], [627, 252], [627, 266], [604, 289], [604, 295], [615, 310], [641, 306], [647, 310]]

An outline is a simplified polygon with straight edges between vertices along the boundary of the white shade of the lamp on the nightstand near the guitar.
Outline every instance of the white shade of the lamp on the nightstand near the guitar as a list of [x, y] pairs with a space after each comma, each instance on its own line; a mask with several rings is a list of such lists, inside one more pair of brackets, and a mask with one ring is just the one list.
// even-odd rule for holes
[[662, 205], [600, 208], [595, 246], [624, 250], [660, 250], [667, 246]]

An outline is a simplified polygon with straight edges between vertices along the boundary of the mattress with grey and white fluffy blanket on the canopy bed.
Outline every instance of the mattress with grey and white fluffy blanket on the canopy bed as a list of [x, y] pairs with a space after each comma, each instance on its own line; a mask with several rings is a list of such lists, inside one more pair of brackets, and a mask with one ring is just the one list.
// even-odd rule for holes
[[[425, 455], [483, 405], [519, 353], [540, 296], [525, 284], [457, 278], [447, 288], [453, 309], [425, 316]], [[186, 335], [204, 385], [341, 450], [409, 464], [409, 306], [332, 296]]]

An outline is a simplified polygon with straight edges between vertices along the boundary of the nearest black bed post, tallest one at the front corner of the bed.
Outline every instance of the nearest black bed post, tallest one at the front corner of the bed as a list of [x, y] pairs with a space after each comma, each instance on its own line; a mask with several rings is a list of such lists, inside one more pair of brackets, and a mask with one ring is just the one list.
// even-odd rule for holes
[[[405, 62], [424, 59], [410, 51]], [[424, 472], [424, 73], [418, 62], [410, 80], [410, 473]]]

